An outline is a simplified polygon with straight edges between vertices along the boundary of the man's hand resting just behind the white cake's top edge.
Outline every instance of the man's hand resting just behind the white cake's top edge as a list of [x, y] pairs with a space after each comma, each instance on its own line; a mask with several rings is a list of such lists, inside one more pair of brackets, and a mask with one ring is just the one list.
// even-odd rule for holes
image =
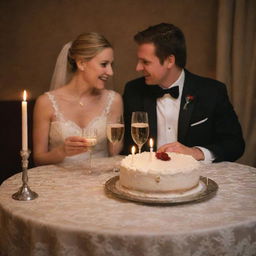
[[179, 142], [168, 143], [161, 146], [157, 152], [176, 152], [184, 155], [191, 155], [196, 160], [204, 160], [203, 152], [197, 147], [187, 147]]

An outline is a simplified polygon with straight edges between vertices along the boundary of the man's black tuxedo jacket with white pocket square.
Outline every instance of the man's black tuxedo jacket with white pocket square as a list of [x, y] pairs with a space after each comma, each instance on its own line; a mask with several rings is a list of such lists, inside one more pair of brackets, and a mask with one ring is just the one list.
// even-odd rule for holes
[[[157, 142], [156, 88], [157, 85], [145, 84], [144, 77], [126, 84], [123, 95], [123, 154], [129, 154], [131, 146], [135, 145], [130, 128], [131, 115], [134, 111], [148, 112], [149, 137]], [[193, 100], [184, 109], [188, 96], [193, 96]], [[178, 120], [178, 141], [189, 147], [202, 146], [209, 149], [216, 157], [215, 162], [235, 161], [243, 154], [245, 143], [241, 126], [223, 83], [185, 70]], [[145, 144], [143, 150], [148, 150], [147, 147]]]

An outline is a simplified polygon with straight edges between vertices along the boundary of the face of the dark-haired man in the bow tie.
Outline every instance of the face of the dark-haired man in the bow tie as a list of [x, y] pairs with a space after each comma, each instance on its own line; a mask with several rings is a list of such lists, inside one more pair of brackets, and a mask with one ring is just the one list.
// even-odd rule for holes
[[163, 64], [155, 55], [155, 46], [153, 43], [145, 43], [138, 46], [138, 63], [136, 71], [141, 71], [145, 77], [146, 84], [158, 84], [165, 86], [169, 73], [168, 58]]

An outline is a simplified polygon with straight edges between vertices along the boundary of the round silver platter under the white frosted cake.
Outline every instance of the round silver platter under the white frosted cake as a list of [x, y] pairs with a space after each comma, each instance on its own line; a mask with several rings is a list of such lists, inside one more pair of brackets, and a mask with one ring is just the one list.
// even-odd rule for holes
[[119, 184], [119, 176], [114, 176], [105, 183], [105, 190], [114, 197], [137, 203], [151, 205], [177, 205], [185, 203], [197, 203], [212, 198], [218, 190], [218, 184], [214, 180], [201, 176], [198, 187], [190, 192], [185, 192], [182, 194], [148, 194], [138, 191], [129, 191], [123, 188]]

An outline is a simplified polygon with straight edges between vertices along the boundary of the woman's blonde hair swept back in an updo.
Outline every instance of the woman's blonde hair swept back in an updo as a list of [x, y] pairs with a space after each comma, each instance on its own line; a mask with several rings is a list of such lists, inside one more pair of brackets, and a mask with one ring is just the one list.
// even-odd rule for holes
[[105, 48], [112, 48], [109, 41], [99, 33], [90, 32], [79, 35], [72, 43], [68, 52], [68, 62], [71, 70], [77, 70], [76, 61], [89, 61]]

